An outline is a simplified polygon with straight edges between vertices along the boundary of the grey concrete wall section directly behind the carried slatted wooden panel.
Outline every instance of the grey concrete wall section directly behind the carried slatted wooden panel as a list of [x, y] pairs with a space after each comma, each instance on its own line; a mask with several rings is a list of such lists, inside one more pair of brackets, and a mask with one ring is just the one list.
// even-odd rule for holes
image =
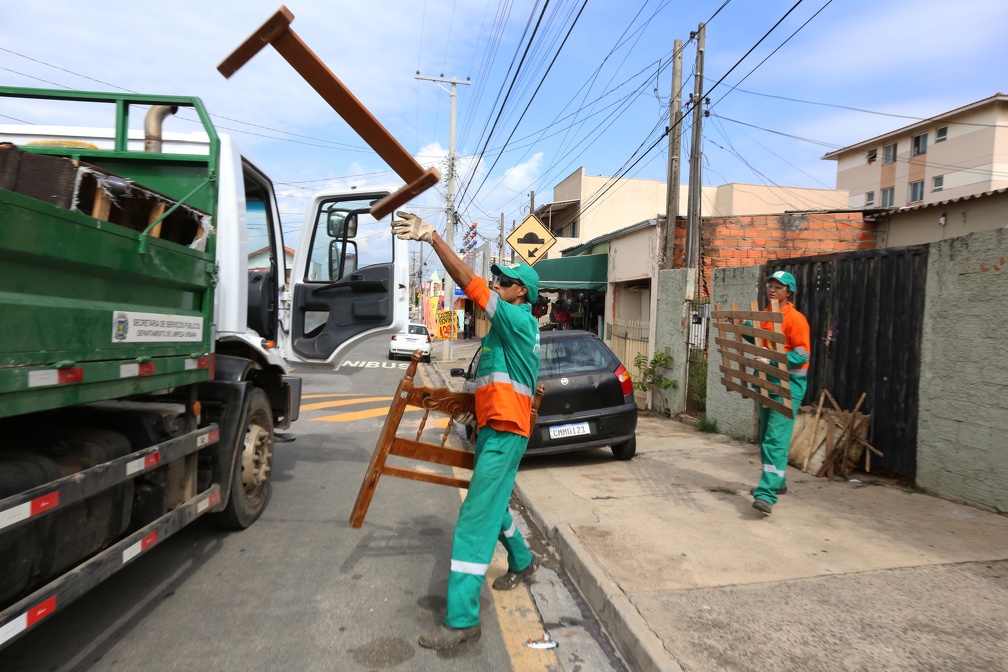
[[[714, 272], [711, 291], [711, 309], [718, 303], [731, 309], [732, 301], [740, 309], [747, 309], [759, 298], [759, 266], [719, 268]], [[714, 343], [717, 329], [711, 328], [707, 365], [707, 417], [718, 422], [718, 431], [735, 438], [756, 439], [754, 422], [755, 403], [738, 392], [729, 392], [721, 384], [720, 351]]]

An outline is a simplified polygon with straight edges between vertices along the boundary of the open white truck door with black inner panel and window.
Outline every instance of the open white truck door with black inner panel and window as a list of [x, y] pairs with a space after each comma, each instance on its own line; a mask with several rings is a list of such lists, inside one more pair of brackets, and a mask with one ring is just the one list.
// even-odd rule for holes
[[409, 313], [406, 241], [369, 215], [388, 191], [316, 194], [290, 275], [284, 357], [340, 366], [362, 341], [400, 331]]

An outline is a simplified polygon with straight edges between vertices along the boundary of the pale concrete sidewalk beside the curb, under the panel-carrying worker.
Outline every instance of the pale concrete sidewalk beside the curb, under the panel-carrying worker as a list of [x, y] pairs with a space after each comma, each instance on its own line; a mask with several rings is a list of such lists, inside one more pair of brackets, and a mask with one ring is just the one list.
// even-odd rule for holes
[[[446, 385], [477, 347], [435, 351]], [[632, 460], [529, 459], [516, 490], [633, 670], [1008, 670], [1008, 517], [793, 467], [763, 517], [759, 469], [642, 413]]]

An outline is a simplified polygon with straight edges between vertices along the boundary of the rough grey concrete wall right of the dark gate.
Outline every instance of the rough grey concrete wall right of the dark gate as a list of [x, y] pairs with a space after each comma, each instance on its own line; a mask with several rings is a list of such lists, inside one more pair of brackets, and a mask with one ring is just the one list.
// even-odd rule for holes
[[933, 243], [921, 339], [919, 488], [1008, 512], [1008, 232]]

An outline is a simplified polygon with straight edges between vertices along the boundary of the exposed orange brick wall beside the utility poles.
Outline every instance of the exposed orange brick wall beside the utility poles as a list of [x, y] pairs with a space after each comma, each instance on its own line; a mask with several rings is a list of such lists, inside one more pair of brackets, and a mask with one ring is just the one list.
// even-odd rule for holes
[[[773, 259], [807, 257], [876, 247], [876, 226], [860, 212], [787, 213], [706, 218], [701, 224], [701, 265], [708, 294], [715, 269], [758, 266]], [[686, 222], [675, 221], [673, 267], [685, 258]]]

